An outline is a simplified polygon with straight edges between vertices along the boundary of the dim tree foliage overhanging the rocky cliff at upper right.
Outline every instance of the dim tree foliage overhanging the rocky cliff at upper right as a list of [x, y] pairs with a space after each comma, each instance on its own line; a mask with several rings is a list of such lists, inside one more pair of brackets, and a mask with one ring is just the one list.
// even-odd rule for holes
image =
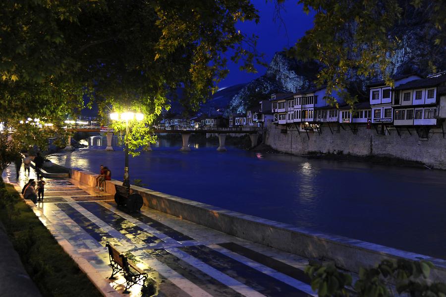
[[[283, 0], [278, 0], [283, 2]], [[383, 77], [393, 84], [392, 63], [404, 49], [418, 55], [419, 72], [445, 67], [446, 2], [444, 0], [299, 0], [315, 12], [314, 27], [289, 55], [317, 60], [323, 68], [317, 84], [344, 89], [352, 79]], [[416, 27], [418, 32], [409, 28]], [[422, 39], [422, 52], [411, 48]], [[426, 73], [422, 73], [426, 74]], [[347, 98], [353, 104], [357, 98]]]

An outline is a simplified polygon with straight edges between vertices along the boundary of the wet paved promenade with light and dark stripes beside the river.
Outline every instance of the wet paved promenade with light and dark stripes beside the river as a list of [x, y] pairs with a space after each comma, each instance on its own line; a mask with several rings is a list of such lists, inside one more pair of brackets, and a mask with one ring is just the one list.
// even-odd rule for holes
[[[28, 178], [15, 180], [13, 166], [3, 177], [17, 188]], [[47, 179], [44, 202], [27, 200], [106, 296], [122, 296], [125, 285], [120, 274], [108, 280], [107, 242], [156, 281], [157, 296], [316, 296], [303, 272], [304, 258], [146, 207], [128, 214], [112, 198], [73, 179]], [[140, 291], [134, 286], [130, 296]]]

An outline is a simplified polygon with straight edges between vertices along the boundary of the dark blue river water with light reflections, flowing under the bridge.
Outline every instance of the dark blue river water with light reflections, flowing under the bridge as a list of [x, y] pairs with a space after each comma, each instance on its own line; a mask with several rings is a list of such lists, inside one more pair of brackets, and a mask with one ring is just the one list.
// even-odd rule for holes
[[[161, 141], [161, 140], [160, 140]], [[67, 167], [122, 179], [124, 152], [88, 148], [49, 157]], [[299, 227], [446, 259], [446, 171], [309, 160], [213, 143], [161, 141], [129, 160], [130, 180], [144, 187]]]

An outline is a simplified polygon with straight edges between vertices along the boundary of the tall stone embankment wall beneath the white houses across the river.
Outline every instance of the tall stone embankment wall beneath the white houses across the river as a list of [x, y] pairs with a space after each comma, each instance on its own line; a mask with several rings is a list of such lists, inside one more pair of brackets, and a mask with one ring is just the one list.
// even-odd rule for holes
[[[446, 132], [446, 125], [443, 123]], [[295, 126], [268, 126], [265, 144], [279, 152], [293, 155], [351, 154], [384, 156], [416, 161], [430, 168], [446, 169], [446, 133], [441, 127], [431, 128], [421, 137], [415, 128], [388, 127], [379, 134], [372, 126], [325, 123], [318, 131], [300, 131]], [[381, 131], [381, 129], [379, 129]], [[426, 137], [427, 136], [427, 137]]]

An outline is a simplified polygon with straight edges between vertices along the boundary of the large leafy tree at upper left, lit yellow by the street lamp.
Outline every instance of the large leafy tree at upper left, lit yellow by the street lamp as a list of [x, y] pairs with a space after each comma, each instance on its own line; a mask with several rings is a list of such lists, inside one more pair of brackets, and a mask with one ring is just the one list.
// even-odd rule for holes
[[145, 113], [129, 136], [134, 149], [153, 141], [168, 93], [184, 88], [196, 108], [216, 91], [229, 50], [255, 71], [255, 38], [235, 29], [259, 20], [249, 0], [62, 2], [0, 4], [0, 117], [13, 127], [27, 117], [60, 127], [87, 95], [104, 120], [111, 110]]

